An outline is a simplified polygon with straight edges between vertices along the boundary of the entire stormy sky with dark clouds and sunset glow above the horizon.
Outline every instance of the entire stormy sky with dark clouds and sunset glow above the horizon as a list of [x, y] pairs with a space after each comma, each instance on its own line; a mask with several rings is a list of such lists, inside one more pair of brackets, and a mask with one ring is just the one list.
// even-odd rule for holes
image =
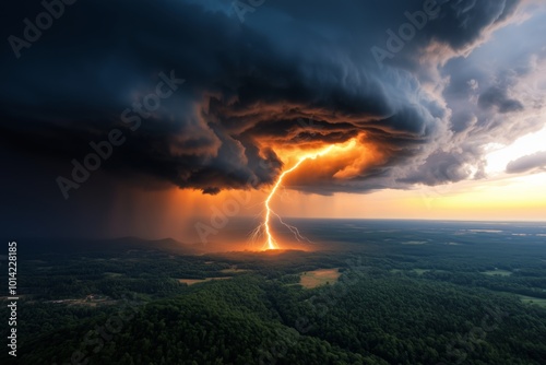
[[8, 234], [546, 217], [544, 1], [0, 7]]

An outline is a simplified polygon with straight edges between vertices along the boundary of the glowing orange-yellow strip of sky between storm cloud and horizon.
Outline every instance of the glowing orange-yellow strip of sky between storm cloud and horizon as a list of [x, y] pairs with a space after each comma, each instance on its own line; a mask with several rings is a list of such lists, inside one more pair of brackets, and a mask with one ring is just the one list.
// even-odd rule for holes
[[[498, 181], [461, 181], [414, 190], [332, 196], [281, 188], [271, 205], [283, 217], [546, 222], [544, 186], [546, 173]], [[256, 217], [258, 222], [258, 217], [264, 215], [268, 193], [265, 188], [227, 190], [216, 196], [177, 188], [139, 195], [126, 191], [110, 212], [118, 217], [121, 213], [123, 221], [112, 224], [110, 234], [199, 243], [195, 222], [213, 226], [213, 220], [224, 215], [225, 226], [209, 237], [218, 242], [229, 236], [232, 217]], [[127, 214], [128, 207], [135, 213]], [[240, 238], [245, 236], [242, 233]]]

